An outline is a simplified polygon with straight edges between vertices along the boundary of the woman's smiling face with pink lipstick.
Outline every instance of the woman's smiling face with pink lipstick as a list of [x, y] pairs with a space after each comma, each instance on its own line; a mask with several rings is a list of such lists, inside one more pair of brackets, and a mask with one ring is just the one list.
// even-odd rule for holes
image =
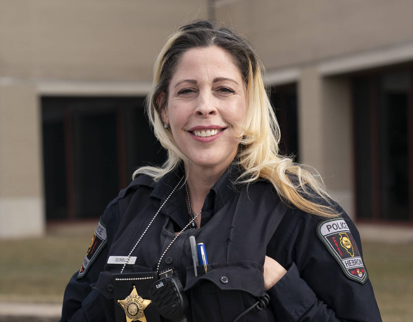
[[176, 67], [162, 113], [180, 150], [195, 165], [227, 167], [246, 114], [244, 80], [230, 55], [211, 46], [189, 49]]

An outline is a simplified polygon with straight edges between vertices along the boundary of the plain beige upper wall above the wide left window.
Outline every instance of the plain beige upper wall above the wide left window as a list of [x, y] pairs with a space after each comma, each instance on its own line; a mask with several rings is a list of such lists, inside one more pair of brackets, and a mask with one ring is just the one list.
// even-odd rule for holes
[[149, 81], [165, 38], [206, 1], [0, 0], [0, 76]]

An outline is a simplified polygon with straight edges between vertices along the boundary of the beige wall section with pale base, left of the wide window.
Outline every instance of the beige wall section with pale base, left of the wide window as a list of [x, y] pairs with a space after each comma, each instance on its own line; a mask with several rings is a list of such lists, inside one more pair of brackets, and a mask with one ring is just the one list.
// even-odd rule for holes
[[36, 88], [0, 86], [0, 237], [45, 231], [40, 108]]

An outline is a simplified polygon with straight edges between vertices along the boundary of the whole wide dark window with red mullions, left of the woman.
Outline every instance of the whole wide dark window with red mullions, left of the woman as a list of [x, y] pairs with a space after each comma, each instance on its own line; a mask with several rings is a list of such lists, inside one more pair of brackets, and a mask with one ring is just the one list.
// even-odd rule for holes
[[100, 216], [136, 167], [161, 164], [143, 97], [43, 97], [47, 219]]

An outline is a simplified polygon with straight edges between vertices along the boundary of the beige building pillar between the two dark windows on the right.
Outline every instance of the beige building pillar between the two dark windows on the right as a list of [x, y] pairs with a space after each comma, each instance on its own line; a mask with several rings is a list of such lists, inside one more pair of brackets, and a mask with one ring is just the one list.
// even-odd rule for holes
[[354, 217], [353, 125], [349, 78], [320, 76], [316, 66], [299, 79], [301, 162], [314, 167], [333, 197]]

